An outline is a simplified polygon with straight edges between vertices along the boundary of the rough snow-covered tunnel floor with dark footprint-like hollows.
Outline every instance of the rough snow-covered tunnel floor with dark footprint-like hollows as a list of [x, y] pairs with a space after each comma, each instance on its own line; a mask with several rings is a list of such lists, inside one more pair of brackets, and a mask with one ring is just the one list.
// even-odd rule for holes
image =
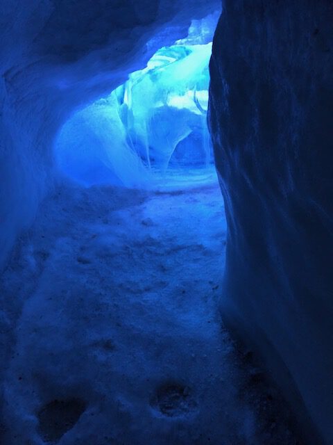
[[298, 443], [223, 328], [225, 231], [216, 182], [46, 200], [0, 283], [1, 444]]

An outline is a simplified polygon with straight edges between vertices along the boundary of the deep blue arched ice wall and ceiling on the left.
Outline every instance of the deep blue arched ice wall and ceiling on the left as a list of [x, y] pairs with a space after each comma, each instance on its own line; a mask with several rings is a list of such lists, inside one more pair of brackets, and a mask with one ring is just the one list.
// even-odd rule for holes
[[78, 109], [186, 38], [217, 0], [2, 0], [0, 268], [56, 179], [53, 141]]

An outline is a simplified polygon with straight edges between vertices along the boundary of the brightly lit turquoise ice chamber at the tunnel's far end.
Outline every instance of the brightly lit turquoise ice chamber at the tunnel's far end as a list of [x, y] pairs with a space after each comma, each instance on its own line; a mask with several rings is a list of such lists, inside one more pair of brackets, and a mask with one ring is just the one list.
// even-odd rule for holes
[[162, 47], [108, 97], [76, 112], [56, 141], [58, 168], [84, 186], [216, 181], [207, 129], [212, 42]]

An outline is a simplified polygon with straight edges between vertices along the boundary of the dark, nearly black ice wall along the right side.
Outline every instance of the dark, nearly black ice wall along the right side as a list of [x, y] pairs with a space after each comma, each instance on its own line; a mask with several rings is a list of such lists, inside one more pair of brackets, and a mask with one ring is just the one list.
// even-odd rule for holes
[[[210, 126], [228, 218], [223, 315], [333, 444], [333, 3], [226, 0]], [[296, 405], [297, 404], [297, 405]]]

